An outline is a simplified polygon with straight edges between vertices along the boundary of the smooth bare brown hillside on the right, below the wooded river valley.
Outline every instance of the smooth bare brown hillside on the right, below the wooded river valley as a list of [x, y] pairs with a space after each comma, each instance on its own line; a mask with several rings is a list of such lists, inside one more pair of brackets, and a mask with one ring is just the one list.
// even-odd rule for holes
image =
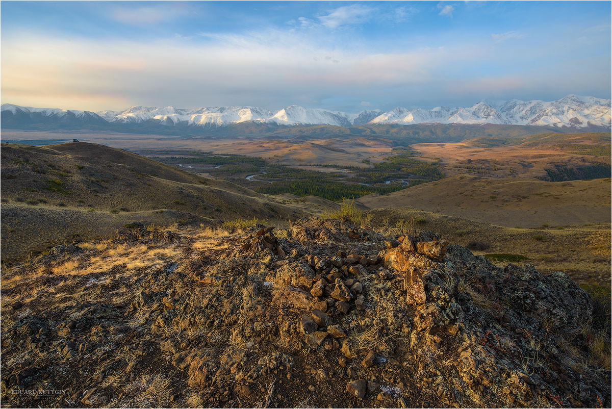
[[610, 178], [545, 182], [529, 178], [450, 176], [359, 199], [370, 208], [409, 206], [506, 227], [610, 223]]

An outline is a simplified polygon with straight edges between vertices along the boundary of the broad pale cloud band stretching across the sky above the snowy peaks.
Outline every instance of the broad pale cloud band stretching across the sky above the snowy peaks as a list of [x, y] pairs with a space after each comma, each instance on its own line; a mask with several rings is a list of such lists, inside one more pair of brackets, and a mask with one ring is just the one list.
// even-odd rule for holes
[[[580, 59], [576, 67], [557, 64], [547, 75], [538, 66], [524, 72], [531, 62], [556, 56], [559, 50], [584, 47], [578, 41], [543, 50], [538, 44], [510, 41], [490, 47], [487, 36], [432, 41], [444, 47], [382, 48], [334, 42], [338, 37], [336, 31], [313, 35], [267, 29], [242, 35], [203, 33], [189, 41], [177, 36], [110, 44], [29, 32], [2, 43], [2, 100], [86, 110], [130, 105], [272, 110], [296, 103], [356, 111], [367, 103], [379, 108], [427, 101], [460, 105], [460, 99], [473, 101], [491, 92], [500, 99], [509, 92], [543, 99], [537, 94], [550, 90], [591, 95], [592, 89], [610, 86], [609, 70], [600, 68], [609, 67], [609, 56], [588, 63]], [[483, 65], [487, 72], [479, 69]], [[512, 75], [501, 75], [509, 67], [515, 67]], [[590, 67], [588, 75], [585, 67]], [[457, 102], [449, 102], [450, 97]], [[353, 105], [327, 104], [339, 99]]]

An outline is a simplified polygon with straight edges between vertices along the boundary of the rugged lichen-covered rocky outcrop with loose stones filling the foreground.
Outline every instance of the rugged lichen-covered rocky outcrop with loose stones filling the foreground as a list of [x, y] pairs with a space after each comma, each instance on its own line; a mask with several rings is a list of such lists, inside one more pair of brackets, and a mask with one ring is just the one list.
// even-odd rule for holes
[[[48, 287], [3, 285], [3, 391], [62, 391], [51, 407], [610, 407], [610, 372], [583, 359], [591, 300], [562, 272], [346, 220], [209, 247], [132, 230], [118, 243], [175, 255], [92, 275], [105, 253], [72, 246], [14, 268]], [[66, 261], [83, 274], [52, 272]]]

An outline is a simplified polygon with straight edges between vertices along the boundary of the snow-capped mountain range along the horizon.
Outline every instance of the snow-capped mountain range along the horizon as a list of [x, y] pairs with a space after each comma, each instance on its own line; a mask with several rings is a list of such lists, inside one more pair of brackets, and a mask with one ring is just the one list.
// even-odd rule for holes
[[[132, 107], [125, 111], [75, 111], [57, 108], [20, 107], [2, 104], [3, 127], [15, 122], [84, 122], [88, 124], [160, 124], [188, 127], [222, 127], [243, 122], [284, 126], [378, 125], [378, 124], [498, 124], [545, 127], [610, 127], [610, 99], [565, 96], [556, 101], [479, 102], [471, 107], [393, 108], [390, 111], [366, 110], [359, 113], [303, 108], [290, 105], [278, 111], [257, 107], [212, 107], [179, 109], [174, 107]], [[6, 126], [9, 124], [9, 126]]]

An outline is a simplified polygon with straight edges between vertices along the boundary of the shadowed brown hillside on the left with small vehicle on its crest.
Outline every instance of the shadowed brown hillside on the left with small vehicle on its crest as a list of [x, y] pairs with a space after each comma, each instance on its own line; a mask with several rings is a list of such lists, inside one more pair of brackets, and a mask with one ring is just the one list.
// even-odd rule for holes
[[[230, 182], [201, 178], [121, 149], [91, 143], [5, 144], [2, 260], [108, 235], [126, 223], [218, 223], [237, 217], [288, 220], [318, 203], [278, 203]], [[97, 232], [97, 235], [96, 235]]]

